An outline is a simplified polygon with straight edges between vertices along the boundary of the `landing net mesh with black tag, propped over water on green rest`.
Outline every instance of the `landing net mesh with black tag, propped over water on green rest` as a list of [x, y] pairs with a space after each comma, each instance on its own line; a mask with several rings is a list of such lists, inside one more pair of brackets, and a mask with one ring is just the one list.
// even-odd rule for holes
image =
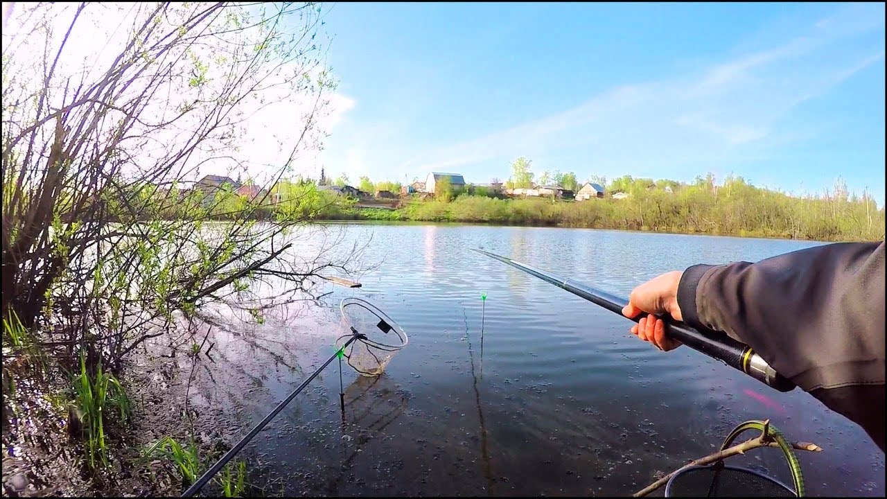
[[341, 301], [341, 348], [350, 337], [361, 335], [345, 347], [348, 364], [364, 376], [379, 376], [400, 349], [406, 346], [406, 332], [374, 305], [360, 298]]

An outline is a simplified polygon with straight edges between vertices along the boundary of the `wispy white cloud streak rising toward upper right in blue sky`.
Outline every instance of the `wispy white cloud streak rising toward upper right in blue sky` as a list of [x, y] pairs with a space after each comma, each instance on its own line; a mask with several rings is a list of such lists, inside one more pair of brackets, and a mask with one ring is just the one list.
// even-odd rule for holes
[[[492, 163], [506, 165], [516, 155], [544, 161], [581, 150], [588, 164], [578, 168], [593, 171], [580, 175], [668, 168], [673, 172], [763, 154], [781, 141], [774, 135], [793, 108], [883, 60], [883, 43], [835, 51], [848, 37], [883, 28], [883, 19], [871, 15], [860, 22], [858, 11], [852, 7], [849, 14], [837, 12], [803, 36], [705, 67], [695, 75], [619, 86], [576, 107], [480, 139], [420, 151], [400, 169], [461, 168], [486, 175]], [[496, 173], [504, 171], [498, 168]]]

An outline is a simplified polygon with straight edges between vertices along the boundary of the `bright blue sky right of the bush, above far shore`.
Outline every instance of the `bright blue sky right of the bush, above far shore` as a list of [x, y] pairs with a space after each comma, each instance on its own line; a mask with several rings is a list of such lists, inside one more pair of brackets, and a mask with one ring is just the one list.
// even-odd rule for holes
[[[883, 4], [326, 4], [352, 180], [690, 181], [884, 200]], [[316, 168], [319, 171], [319, 167]], [[314, 172], [317, 175], [318, 171]]]

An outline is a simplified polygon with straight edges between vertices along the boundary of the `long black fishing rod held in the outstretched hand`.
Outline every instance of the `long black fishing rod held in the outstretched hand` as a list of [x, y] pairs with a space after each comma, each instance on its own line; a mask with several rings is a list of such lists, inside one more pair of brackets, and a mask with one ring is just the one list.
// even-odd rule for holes
[[[483, 249], [475, 249], [475, 251], [504, 264], [511, 265], [543, 281], [550, 282], [559, 288], [566, 289], [577, 297], [585, 298], [594, 305], [600, 305], [610, 312], [622, 315], [622, 309], [625, 305], [628, 305], [628, 300], [624, 298], [616, 297], [600, 289], [594, 289], [581, 282], [564, 279], [560, 275], [523, 264], [511, 258], [494, 255], [489, 251], [483, 251]], [[648, 313], [640, 313], [632, 321], [640, 322], [641, 319], [647, 316]], [[720, 360], [731, 368], [739, 369], [774, 390], [779, 392], [791, 392], [794, 390], [795, 384], [785, 376], [777, 373], [749, 345], [738, 342], [722, 332], [711, 329], [696, 329], [684, 322], [674, 321], [668, 316], [659, 318], [665, 321], [665, 333], [672, 339], [678, 340], [697, 352], [703, 352], [713, 359]]]

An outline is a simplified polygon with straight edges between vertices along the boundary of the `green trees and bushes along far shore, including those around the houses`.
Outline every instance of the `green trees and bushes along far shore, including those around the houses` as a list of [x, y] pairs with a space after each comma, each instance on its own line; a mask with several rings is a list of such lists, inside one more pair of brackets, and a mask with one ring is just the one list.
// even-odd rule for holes
[[[544, 172], [537, 182], [531, 162], [518, 158], [506, 187], [557, 183], [578, 189], [576, 174]], [[321, 177], [324, 177], [323, 171]], [[347, 181], [342, 174], [335, 183]], [[310, 178], [279, 181], [271, 195], [256, 210], [263, 218], [298, 214], [314, 219], [415, 220], [491, 223], [529, 226], [576, 226], [627, 230], [649, 230], [692, 234], [721, 234], [807, 239], [817, 241], [875, 241], [884, 237], [884, 210], [866, 193], [851, 194], [838, 178], [833, 189], [819, 195], [791, 196], [752, 186], [738, 176], [720, 184], [713, 174], [683, 183], [671, 179], [614, 178], [591, 176], [589, 181], [606, 186], [608, 193], [627, 194], [625, 199], [593, 199], [561, 202], [544, 198], [507, 198], [490, 186], [452, 186], [449, 178], [436, 182], [433, 199], [402, 199], [396, 210], [360, 208], [356, 200], [317, 189]], [[497, 184], [493, 182], [493, 184]], [[361, 177], [358, 188], [373, 193], [398, 192], [400, 184], [373, 183]], [[216, 216], [237, 212], [242, 206], [235, 194], [217, 202]], [[182, 210], [187, 204], [175, 205]]]

